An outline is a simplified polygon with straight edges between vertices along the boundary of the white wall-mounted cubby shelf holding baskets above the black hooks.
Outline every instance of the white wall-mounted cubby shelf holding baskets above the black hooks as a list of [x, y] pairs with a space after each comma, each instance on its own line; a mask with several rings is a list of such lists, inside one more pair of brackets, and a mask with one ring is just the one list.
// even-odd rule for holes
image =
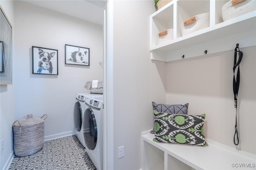
[[[192, 0], [190, 2], [195, 1]], [[192, 6], [193, 3], [188, 6], [191, 6], [192, 11], [197, 13], [209, 11], [210, 27], [183, 37], [180, 33], [180, 23], [184, 20], [184, 17], [182, 18], [180, 13], [184, 13], [184, 9], [182, 9], [184, 8], [184, 1], [173, 0], [161, 8], [160, 11], [150, 16], [150, 51], [152, 60], [168, 62], [182, 59], [182, 55], [184, 55], [184, 58], [205, 55], [205, 50], [207, 50], [207, 54], [228, 51], [235, 49], [236, 43], [239, 43], [241, 48], [256, 45], [256, 11], [223, 22], [220, 9], [228, 1], [197, 0], [196, 2], [202, 3], [197, 6], [206, 6], [204, 8], [206, 10], [195, 10], [195, 6]], [[210, 6], [210, 9], [208, 6]], [[174, 15], [170, 16], [172, 12]], [[173, 17], [175, 14], [177, 14], [177, 17]], [[188, 15], [194, 14], [184, 16], [188, 17]], [[170, 42], [156, 45], [156, 34], [170, 28], [166, 23], [171, 23], [170, 25], [174, 29], [174, 39]]]

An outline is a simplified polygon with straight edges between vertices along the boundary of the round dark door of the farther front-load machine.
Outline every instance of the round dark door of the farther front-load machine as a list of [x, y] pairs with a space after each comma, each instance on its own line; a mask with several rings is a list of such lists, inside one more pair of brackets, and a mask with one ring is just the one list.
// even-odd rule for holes
[[76, 131], [80, 132], [82, 129], [82, 107], [80, 105], [80, 102], [76, 102], [74, 106], [74, 124]]

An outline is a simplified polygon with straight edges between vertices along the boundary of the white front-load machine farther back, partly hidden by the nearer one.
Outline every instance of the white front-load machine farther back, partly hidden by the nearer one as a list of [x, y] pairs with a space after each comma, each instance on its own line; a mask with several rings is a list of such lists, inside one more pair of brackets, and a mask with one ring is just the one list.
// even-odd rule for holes
[[[98, 94], [102, 95], [102, 94]], [[97, 96], [97, 94], [90, 94], [90, 93], [78, 93], [76, 94], [76, 102], [74, 105], [74, 125], [75, 125], [75, 131], [76, 136], [79, 139], [79, 141], [82, 143], [82, 145], [85, 147], [85, 141], [84, 141], [84, 132], [83, 132], [83, 114], [85, 110], [85, 100], [88, 96]]]

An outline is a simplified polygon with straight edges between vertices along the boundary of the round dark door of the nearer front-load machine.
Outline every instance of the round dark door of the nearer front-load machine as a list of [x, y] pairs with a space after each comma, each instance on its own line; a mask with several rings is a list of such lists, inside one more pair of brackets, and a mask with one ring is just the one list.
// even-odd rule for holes
[[94, 150], [97, 143], [97, 125], [94, 113], [90, 107], [84, 111], [84, 141], [86, 147], [90, 150]]

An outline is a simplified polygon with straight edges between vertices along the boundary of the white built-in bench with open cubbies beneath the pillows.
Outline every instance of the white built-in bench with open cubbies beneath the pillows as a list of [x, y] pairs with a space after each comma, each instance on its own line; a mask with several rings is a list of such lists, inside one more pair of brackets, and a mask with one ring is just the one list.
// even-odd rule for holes
[[256, 155], [207, 140], [208, 147], [157, 143], [142, 132], [142, 170], [256, 169]]

